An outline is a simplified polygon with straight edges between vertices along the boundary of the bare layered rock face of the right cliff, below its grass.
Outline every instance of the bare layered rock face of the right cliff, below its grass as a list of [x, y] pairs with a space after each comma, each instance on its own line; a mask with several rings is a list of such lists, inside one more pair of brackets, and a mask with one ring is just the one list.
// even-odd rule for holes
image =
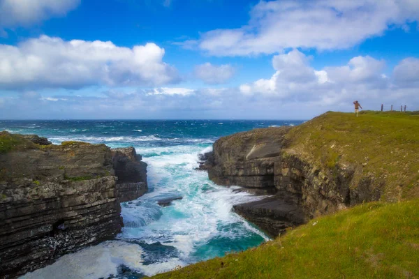
[[[379, 199], [381, 193], [371, 187], [372, 179], [355, 175], [356, 166], [342, 163], [329, 169], [291, 149], [290, 129], [255, 129], [214, 143], [208, 167], [212, 181], [276, 193], [260, 202], [234, 206], [237, 213], [277, 236], [314, 216]], [[354, 183], [357, 187], [352, 187]]]

